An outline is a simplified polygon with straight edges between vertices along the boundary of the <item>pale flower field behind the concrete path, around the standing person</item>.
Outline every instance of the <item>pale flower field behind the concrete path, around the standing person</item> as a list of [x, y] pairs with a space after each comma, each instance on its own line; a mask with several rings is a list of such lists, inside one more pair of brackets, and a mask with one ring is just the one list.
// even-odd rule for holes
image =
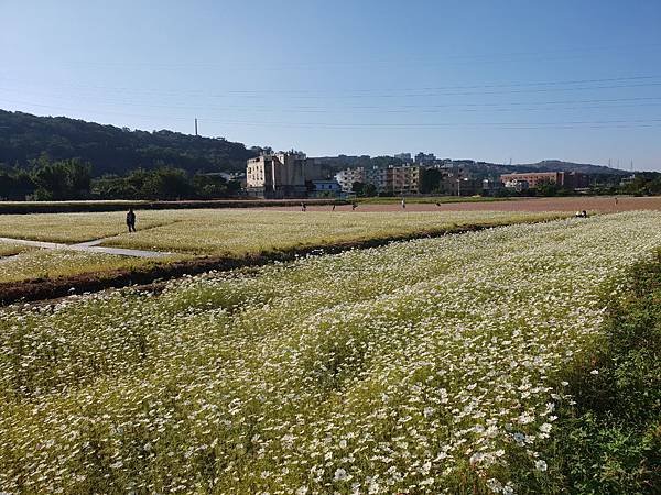
[[[330, 207], [329, 207], [330, 208]], [[128, 234], [124, 213], [0, 216], [0, 237], [75, 243], [115, 237], [106, 245], [199, 254], [245, 254], [296, 245], [333, 244], [464, 224], [556, 218], [549, 212], [387, 212], [197, 209], [138, 211]]]

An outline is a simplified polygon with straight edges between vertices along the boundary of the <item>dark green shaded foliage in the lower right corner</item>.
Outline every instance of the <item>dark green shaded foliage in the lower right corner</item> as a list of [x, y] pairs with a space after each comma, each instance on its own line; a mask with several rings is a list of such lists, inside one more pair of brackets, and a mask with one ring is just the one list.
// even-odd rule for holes
[[[660, 254], [661, 256], [661, 254]], [[576, 404], [550, 447], [562, 490], [658, 493], [661, 486], [661, 257], [639, 264], [611, 300], [604, 338], [572, 371]]]

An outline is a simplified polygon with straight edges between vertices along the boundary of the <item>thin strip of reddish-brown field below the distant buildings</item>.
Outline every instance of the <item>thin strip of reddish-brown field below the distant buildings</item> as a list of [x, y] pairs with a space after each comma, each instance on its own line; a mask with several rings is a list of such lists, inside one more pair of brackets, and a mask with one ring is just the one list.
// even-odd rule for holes
[[[520, 198], [509, 201], [472, 201], [434, 204], [407, 204], [407, 211], [581, 211], [613, 213], [631, 210], [661, 210], [661, 196], [620, 197], [586, 196], [567, 198]], [[308, 206], [308, 211], [328, 211], [330, 206]], [[270, 209], [300, 210], [300, 207], [271, 207]], [[337, 206], [335, 211], [350, 210], [350, 205]], [[356, 211], [401, 211], [399, 202], [391, 205], [358, 205]]]

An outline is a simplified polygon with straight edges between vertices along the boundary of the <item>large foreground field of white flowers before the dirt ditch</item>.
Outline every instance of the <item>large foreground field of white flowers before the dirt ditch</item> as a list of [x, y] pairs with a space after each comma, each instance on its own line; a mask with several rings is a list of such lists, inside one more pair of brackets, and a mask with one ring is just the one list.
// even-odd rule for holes
[[4, 308], [0, 491], [543, 484], [563, 369], [660, 224], [511, 226]]

